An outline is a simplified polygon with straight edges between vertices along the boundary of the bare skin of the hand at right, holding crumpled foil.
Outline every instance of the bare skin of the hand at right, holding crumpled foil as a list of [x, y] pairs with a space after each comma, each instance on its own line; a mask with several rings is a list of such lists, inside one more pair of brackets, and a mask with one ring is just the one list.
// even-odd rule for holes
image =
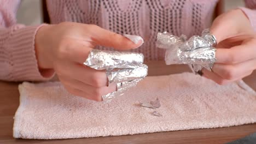
[[220, 85], [237, 81], [256, 69], [256, 37], [247, 16], [240, 9], [217, 17], [211, 27], [217, 38], [217, 62], [203, 76]]

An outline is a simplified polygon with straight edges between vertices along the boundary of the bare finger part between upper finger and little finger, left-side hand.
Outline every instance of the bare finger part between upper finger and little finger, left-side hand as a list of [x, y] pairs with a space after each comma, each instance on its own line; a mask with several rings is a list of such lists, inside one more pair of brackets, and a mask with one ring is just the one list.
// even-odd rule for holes
[[94, 97], [102, 97], [102, 95], [117, 91], [117, 85], [115, 83], [104, 87], [94, 87], [69, 77], [61, 77], [60, 80], [65, 82], [65, 85], [84, 91]]

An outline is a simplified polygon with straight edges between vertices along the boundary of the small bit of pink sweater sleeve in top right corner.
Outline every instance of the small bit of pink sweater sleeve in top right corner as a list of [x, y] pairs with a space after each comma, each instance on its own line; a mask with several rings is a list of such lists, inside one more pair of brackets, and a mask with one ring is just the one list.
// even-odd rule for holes
[[245, 0], [247, 8], [240, 8], [251, 21], [254, 31], [256, 32], [256, 0]]

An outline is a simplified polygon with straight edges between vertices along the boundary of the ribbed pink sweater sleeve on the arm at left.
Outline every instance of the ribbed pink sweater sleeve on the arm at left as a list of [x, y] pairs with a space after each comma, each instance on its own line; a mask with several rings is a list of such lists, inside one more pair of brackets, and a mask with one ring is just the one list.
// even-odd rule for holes
[[0, 1], [0, 80], [42, 81], [53, 70], [40, 71], [34, 49], [37, 30], [44, 26], [24, 26], [16, 23], [20, 0]]

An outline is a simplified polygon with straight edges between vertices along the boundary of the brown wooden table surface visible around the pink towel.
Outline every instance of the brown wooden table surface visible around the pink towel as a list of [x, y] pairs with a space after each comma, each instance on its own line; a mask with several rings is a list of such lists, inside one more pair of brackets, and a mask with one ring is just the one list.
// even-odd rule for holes
[[[189, 71], [185, 65], [166, 66], [149, 62], [149, 75], [167, 75]], [[244, 80], [256, 89], [256, 73]], [[256, 132], [256, 123], [228, 128], [195, 129], [124, 136], [68, 140], [22, 140], [13, 138], [13, 117], [19, 106], [18, 84], [0, 81], [0, 143], [226, 143]]]

